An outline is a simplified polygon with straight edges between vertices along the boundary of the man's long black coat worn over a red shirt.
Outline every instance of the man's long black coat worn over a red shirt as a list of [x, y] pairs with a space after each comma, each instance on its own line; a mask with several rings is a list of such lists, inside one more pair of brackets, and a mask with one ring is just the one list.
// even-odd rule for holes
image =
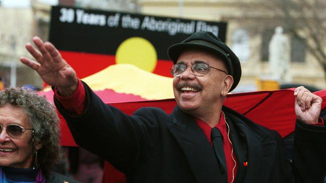
[[[128, 116], [103, 103], [84, 85], [87, 101], [81, 115], [70, 115], [56, 98], [55, 104], [76, 143], [104, 157], [125, 173], [128, 181], [219, 182], [216, 156], [191, 115], [177, 106], [172, 114], [143, 107]], [[238, 158], [235, 182], [323, 181], [326, 163], [320, 152], [326, 151], [325, 127], [297, 121], [291, 163], [285, 159], [285, 145], [276, 131], [225, 106], [223, 111]]]

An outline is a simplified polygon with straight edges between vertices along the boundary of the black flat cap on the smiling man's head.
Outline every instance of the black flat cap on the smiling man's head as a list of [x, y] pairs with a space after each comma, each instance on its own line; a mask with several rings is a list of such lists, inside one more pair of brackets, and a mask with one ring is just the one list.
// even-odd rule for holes
[[233, 76], [234, 82], [231, 86], [232, 91], [239, 83], [241, 78], [241, 65], [239, 58], [234, 52], [222, 42], [217, 36], [209, 31], [200, 31], [192, 34], [181, 43], [169, 47], [168, 55], [176, 63], [179, 55], [189, 48], [201, 48], [216, 53], [224, 60], [228, 73]]

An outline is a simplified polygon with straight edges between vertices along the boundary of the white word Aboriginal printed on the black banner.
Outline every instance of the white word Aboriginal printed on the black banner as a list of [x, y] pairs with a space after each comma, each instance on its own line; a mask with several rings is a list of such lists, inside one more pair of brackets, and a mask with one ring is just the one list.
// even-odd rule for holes
[[171, 21], [170, 18], [167, 20], [156, 20], [153, 16], [145, 16], [142, 23], [141, 29], [147, 29], [151, 31], [167, 31], [170, 35], [176, 33], [192, 34], [195, 32], [195, 21], [191, 22], [180, 22], [180, 19]]

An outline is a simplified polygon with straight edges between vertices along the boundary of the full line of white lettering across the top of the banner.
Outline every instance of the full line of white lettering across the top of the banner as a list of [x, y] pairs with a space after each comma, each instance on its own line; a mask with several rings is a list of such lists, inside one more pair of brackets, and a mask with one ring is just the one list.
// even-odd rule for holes
[[114, 15], [109, 15], [106, 18], [106, 15], [104, 14], [88, 13], [83, 9], [74, 10], [73, 8], [65, 7], [60, 9], [60, 13], [59, 20], [68, 23], [74, 23], [76, 19], [75, 22], [78, 24], [118, 27], [121, 19], [122, 28], [140, 28], [142, 30], [146, 29], [149, 31], [168, 32], [170, 35], [176, 35], [177, 33], [192, 34], [203, 30], [211, 31], [216, 36], [219, 34], [219, 26], [210, 25], [207, 22], [200, 20], [188, 20], [188, 22], [182, 22], [180, 19], [172, 20], [171, 18], [157, 20], [154, 16], [144, 16], [141, 20], [138, 17], [132, 17], [130, 14], [120, 15], [118, 12]]

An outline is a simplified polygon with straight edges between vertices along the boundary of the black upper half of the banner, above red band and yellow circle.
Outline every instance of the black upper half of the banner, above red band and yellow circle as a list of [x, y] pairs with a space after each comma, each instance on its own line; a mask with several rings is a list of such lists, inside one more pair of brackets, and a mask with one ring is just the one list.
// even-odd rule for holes
[[157, 59], [196, 31], [209, 30], [225, 41], [226, 23], [53, 6], [49, 40], [60, 50], [115, 55], [129, 37], [155, 47]]

